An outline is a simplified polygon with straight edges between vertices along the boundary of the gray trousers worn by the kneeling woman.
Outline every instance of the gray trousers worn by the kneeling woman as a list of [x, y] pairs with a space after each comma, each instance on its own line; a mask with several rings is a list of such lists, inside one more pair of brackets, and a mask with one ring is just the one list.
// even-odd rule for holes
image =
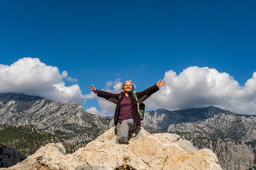
[[118, 143], [119, 138], [123, 138], [126, 142], [128, 142], [129, 131], [135, 129], [137, 126], [134, 125], [133, 119], [123, 120], [122, 123], [117, 123], [117, 140]]

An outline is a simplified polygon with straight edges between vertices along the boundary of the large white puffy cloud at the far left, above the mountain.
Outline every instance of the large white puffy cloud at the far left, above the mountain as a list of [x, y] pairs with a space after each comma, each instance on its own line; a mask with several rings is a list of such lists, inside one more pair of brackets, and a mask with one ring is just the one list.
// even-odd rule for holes
[[83, 104], [84, 97], [78, 85], [66, 86], [65, 80], [77, 80], [47, 66], [38, 58], [22, 58], [12, 65], [0, 64], [0, 93], [37, 95], [61, 103], [75, 101]]

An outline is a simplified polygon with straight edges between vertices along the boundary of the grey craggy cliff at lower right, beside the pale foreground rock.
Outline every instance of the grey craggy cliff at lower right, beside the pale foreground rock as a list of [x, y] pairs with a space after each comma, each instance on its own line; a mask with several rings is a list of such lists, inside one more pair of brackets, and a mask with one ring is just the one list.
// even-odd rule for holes
[[218, 157], [218, 163], [223, 169], [242, 170], [254, 166], [255, 156], [252, 148], [241, 140], [222, 140], [200, 133], [181, 133], [179, 135], [181, 138], [191, 141], [198, 149], [211, 149]]

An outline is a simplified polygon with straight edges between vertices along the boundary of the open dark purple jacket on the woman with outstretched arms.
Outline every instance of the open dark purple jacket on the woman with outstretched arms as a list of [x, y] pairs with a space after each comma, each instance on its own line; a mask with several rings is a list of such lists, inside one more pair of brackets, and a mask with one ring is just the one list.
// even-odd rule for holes
[[[159, 87], [157, 87], [155, 84], [152, 87], [149, 87], [142, 92], [136, 92], [139, 104], [141, 104], [151, 94], [153, 94], [154, 92], [156, 92], [158, 90], [159, 90]], [[119, 99], [120, 94], [121, 94], [121, 97]], [[123, 100], [125, 94], [123, 92], [121, 92], [119, 94], [114, 94], [114, 93], [110, 93], [110, 92], [106, 92], [106, 91], [97, 90], [97, 96], [105, 98], [105, 99], [117, 104], [116, 110], [115, 110], [115, 115], [114, 115], [114, 124], [117, 125], [118, 117], [120, 114], [120, 106], [119, 105], [120, 105], [120, 102]], [[129, 98], [131, 101], [134, 124], [135, 124], [135, 126], [140, 126], [141, 122], [140, 122], [140, 114], [138, 111], [138, 105], [137, 105], [136, 99], [132, 95], [132, 92], [129, 93]]]

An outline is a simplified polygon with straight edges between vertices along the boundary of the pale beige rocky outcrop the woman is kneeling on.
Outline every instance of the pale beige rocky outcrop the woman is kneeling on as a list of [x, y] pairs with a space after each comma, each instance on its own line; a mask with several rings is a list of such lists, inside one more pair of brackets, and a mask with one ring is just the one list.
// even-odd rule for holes
[[138, 127], [130, 133], [129, 144], [115, 140], [112, 127], [73, 154], [51, 143], [8, 169], [221, 169], [210, 149], [198, 150], [177, 134], [149, 134]]

